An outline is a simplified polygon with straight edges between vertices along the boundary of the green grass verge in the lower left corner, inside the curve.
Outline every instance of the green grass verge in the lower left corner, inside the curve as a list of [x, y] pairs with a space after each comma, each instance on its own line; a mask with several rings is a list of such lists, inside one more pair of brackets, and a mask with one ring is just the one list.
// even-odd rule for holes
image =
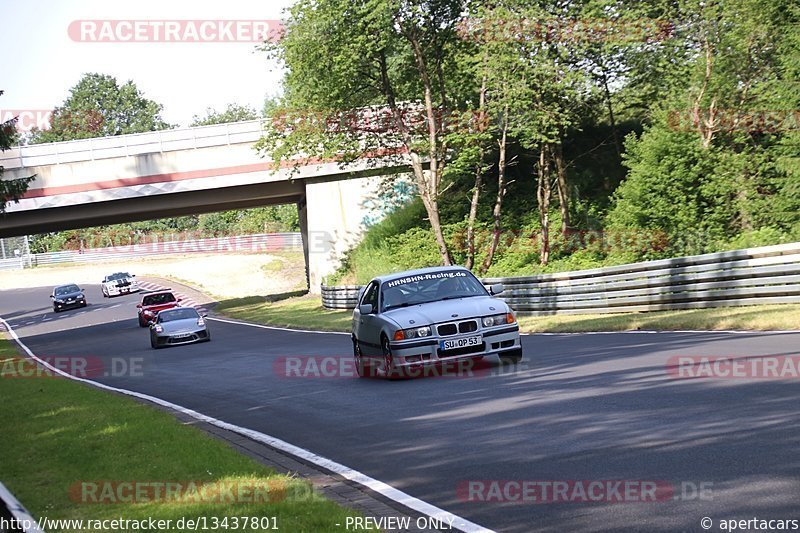
[[[16, 346], [0, 339], [0, 480], [37, 520], [153, 518], [172, 521], [159, 531], [183, 531], [181, 518], [205, 517], [210, 526], [214, 518], [228, 517], [233, 527], [233, 517], [257, 517], [270, 520], [237, 531], [272, 531], [277, 523], [282, 531], [340, 532], [337, 523], [358, 516], [325, 500], [309, 483], [277, 474], [154, 407], [68, 379], [18, 377], [24, 375], [20, 361]], [[150, 490], [125, 502], [132, 493], [120, 482]], [[153, 488], [162, 482], [180, 483], [181, 497], [155, 497]], [[200, 489], [192, 492], [192, 482]], [[214, 487], [222, 488], [219, 497]], [[224, 487], [239, 492], [231, 498]], [[248, 487], [257, 489], [248, 495]], [[85, 501], [94, 498], [101, 503]]]

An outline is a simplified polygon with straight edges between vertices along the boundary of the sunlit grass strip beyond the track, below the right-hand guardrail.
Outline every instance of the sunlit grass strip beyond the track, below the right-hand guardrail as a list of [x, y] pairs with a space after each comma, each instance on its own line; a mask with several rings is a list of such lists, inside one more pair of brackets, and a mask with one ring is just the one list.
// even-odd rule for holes
[[[263, 297], [229, 300], [217, 311], [239, 320], [270, 326], [321, 331], [350, 331], [352, 312], [328, 311], [319, 296], [305, 295], [267, 302]], [[615, 315], [523, 316], [527, 333], [578, 333], [632, 330], [794, 330], [800, 329], [800, 305], [757, 305], [688, 311], [654, 311]]]

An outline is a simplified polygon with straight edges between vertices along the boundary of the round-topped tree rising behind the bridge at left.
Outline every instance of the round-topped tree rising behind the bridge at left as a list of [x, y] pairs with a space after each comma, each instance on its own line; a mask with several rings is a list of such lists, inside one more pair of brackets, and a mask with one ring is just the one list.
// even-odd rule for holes
[[30, 143], [72, 141], [91, 137], [163, 130], [163, 106], [144, 97], [133, 81], [122, 85], [107, 74], [85, 74], [67, 99], [53, 110], [50, 128], [35, 130]]

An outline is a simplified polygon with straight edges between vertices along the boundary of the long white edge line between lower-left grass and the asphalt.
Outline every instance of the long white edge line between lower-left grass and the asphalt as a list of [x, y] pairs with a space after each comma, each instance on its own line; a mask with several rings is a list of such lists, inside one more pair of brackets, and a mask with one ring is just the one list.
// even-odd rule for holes
[[[290, 444], [290, 443], [288, 443], [288, 442], [286, 442], [284, 440], [281, 440], [281, 439], [278, 439], [276, 437], [272, 437], [270, 435], [267, 435], [266, 433], [261, 433], [259, 431], [255, 431], [255, 430], [248, 429], [248, 428], [241, 427], [241, 426], [236, 426], [234, 424], [230, 424], [228, 422], [224, 422], [222, 420], [219, 420], [219, 419], [216, 419], [216, 418], [212, 418], [212, 417], [210, 417], [208, 415], [204, 415], [202, 413], [198, 413], [197, 411], [194, 411], [192, 409], [188, 409], [188, 408], [180, 406], [178, 404], [174, 404], [172, 402], [168, 402], [166, 400], [162, 400], [161, 398], [158, 398], [156, 396], [150, 396], [148, 394], [142, 394], [140, 392], [130, 391], [130, 390], [127, 390], [127, 389], [120, 389], [120, 388], [117, 388], [117, 387], [111, 387], [109, 385], [104, 385], [102, 383], [98, 383], [96, 381], [92, 381], [91, 379], [85, 379], [85, 378], [79, 378], [79, 377], [76, 377], [76, 376], [72, 376], [69, 373], [64, 372], [63, 370], [60, 370], [60, 369], [50, 365], [46, 361], [43, 361], [42, 359], [39, 359], [39, 357], [37, 357], [36, 354], [34, 354], [31, 351], [31, 349], [28, 348], [28, 346], [26, 346], [25, 343], [22, 342], [22, 340], [17, 335], [17, 332], [14, 331], [14, 329], [11, 327], [11, 325], [8, 322], [6, 322], [3, 318], [0, 318], [0, 323], [5, 326], [6, 330], [11, 335], [11, 338], [13, 338], [14, 341], [16, 341], [16, 343], [25, 351], [26, 354], [28, 354], [28, 356], [31, 359], [33, 359], [34, 361], [36, 361], [40, 365], [47, 367], [51, 371], [62, 375], [63, 377], [65, 377], [67, 379], [72, 379], [74, 381], [80, 381], [82, 383], [87, 383], [87, 384], [92, 385], [94, 387], [97, 387], [99, 389], [118, 392], [120, 394], [133, 396], [135, 398], [140, 398], [142, 400], [147, 400], [147, 401], [153, 402], [153, 403], [155, 403], [157, 405], [161, 405], [162, 407], [167, 407], [169, 409], [174, 409], [175, 411], [178, 411], [178, 412], [183, 413], [183, 414], [185, 414], [187, 416], [190, 416], [190, 417], [194, 418], [195, 420], [199, 420], [201, 422], [206, 422], [207, 424], [211, 424], [212, 426], [216, 426], [216, 427], [219, 427], [219, 428], [222, 428], [222, 429], [226, 429], [228, 431], [232, 431], [234, 433], [238, 433], [240, 435], [244, 435], [245, 437], [247, 437], [249, 439], [252, 439], [252, 440], [257, 441], [257, 442], [261, 442], [263, 444], [266, 444], [267, 446], [272, 446], [273, 448], [277, 448], [278, 450], [281, 450], [282, 452], [285, 452], [285, 453], [288, 453], [288, 454], [293, 455], [295, 457], [298, 457], [298, 458], [300, 458], [300, 459], [302, 459], [304, 461], [308, 461], [308, 462], [310, 462], [312, 464], [315, 464], [315, 465], [317, 465], [317, 466], [319, 466], [321, 468], [324, 468], [325, 470], [331, 471], [331, 472], [333, 472], [335, 474], [339, 474], [340, 476], [344, 477], [345, 479], [348, 479], [348, 480], [350, 480], [350, 481], [352, 481], [354, 483], [358, 483], [359, 485], [362, 485], [362, 486], [364, 486], [364, 487], [366, 487], [366, 488], [368, 488], [370, 490], [373, 490], [373, 491], [377, 492], [378, 494], [380, 494], [380, 495], [382, 495], [382, 496], [384, 496], [386, 498], [389, 498], [392, 501], [395, 501], [395, 502], [399, 503], [400, 505], [408, 507], [409, 509], [413, 509], [414, 511], [417, 511], [417, 512], [419, 512], [421, 514], [424, 514], [426, 516], [429, 516], [431, 518], [440, 520], [440, 521], [442, 521], [444, 523], [453, 524], [453, 526], [457, 527], [458, 529], [460, 529], [461, 531], [463, 531], [465, 533], [495, 533], [491, 529], [485, 528], [485, 527], [483, 527], [483, 526], [481, 526], [479, 524], [476, 524], [474, 522], [470, 522], [466, 518], [462, 518], [462, 517], [460, 517], [458, 515], [454, 515], [454, 514], [448, 512], [448, 511], [445, 511], [444, 509], [440, 509], [439, 507], [436, 507], [435, 505], [432, 505], [432, 504], [427, 503], [425, 501], [422, 501], [422, 500], [420, 500], [418, 498], [415, 498], [415, 497], [411, 496], [410, 494], [406, 494], [405, 492], [403, 492], [401, 490], [398, 490], [398, 489], [392, 487], [391, 485], [388, 485], [387, 483], [384, 483], [384, 482], [379, 481], [379, 480], [377, 480], [375, 478], [369, 477], [366, 474], [362, 474], [358, 470], [353, 470], [352, 468], [349, 468], [349, 467], [347, 467], [347, 466], [345, 466], [343, 464], [340, 464], [340, 463], [337, 463], [335, 461], [332, 461], [332, 460], [330, 460], [330, 459], [328, 459], [326, 457], [323, 457], [321, 455], [317, 455], [314, 452], [306, 450], [305, 448], [300, 448], [299, 446], [295, 446], [294, 444]], [[251, 324], [251, 325], [257, 326], [257, 324]], [[275, 328], [272, 328], [272, 329], [275, 329]]]

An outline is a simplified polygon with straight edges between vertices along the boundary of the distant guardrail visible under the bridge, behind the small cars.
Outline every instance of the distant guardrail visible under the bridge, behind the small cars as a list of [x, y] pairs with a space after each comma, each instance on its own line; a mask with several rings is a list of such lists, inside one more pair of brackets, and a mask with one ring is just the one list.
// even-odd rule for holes
[[20, 269], [28, 266], [45, 266], [63, 263], [97, 263], [139, 257], [169, 256], [208, 253], [265, 253], [302, 250], [300, 233], [259, 233], [233, 237], [212, 237], [176, 241], [157, 241], [140, 244], [67, 250], [30, 254], [20, 258], [0, 260], [0, 270]]

